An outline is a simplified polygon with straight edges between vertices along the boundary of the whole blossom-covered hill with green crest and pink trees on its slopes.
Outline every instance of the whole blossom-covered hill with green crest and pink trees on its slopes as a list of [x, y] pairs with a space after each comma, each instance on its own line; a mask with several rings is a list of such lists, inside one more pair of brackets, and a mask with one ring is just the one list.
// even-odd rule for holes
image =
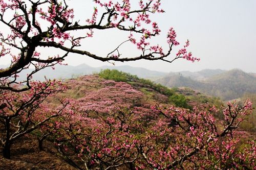
[[[255, 136], [241, 129], [234, 131], [250, 113], [250, 101], [243, 106], [228, 103], [221, 108], [220, 101], [193, 90], [184, 96], [174, 89], [108, 69], [62, 83], [66, 91], [41, 105], [48, 112], [31, 116], [29, 121], [34, 125], [51, 110], [63, 104], [65, 107], [38, 130], [17, 140], [11, 150], [12, 160], [1, 158], [6, 162], [1, 168], [255, 166], [255, 143], [246, 141]], [[28, 118], [20, 117], [20, 121]], [[242, 145], [246, 146], [243, 150]]]

